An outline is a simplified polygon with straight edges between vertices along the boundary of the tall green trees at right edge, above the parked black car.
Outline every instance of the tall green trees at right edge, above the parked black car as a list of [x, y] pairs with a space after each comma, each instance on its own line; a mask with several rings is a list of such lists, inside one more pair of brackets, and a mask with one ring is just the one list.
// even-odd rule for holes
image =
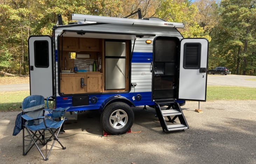
[[220, 5], [221, 21], [211, 35], [218, 46], [215, 57], [236, 74], [256, 75], [255, 0], [223, 0]]

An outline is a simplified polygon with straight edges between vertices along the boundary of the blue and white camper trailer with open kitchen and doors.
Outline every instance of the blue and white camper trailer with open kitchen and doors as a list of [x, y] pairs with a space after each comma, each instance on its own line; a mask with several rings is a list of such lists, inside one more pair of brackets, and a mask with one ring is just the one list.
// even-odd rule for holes
[[73, 114], [101, 110], [108, 134], [126, 133], [136, 106], [155, 108], [163, 131], [189, 128], [179, 103], [206, 101], [205, 38], [183, 38], [183, 23], [158, 18], [58, 19], [52, 36], [29, 37], [31, 95], [52, 96], [55, 107]]

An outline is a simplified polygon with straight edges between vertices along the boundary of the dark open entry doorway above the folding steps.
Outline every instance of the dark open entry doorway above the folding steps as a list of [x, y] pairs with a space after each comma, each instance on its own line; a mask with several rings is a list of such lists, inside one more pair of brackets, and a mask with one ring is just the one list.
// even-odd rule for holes
[[176, 37], [157, 37], [154, 40], [153, 100], [176, 99], [177, 54], [180, 40]]

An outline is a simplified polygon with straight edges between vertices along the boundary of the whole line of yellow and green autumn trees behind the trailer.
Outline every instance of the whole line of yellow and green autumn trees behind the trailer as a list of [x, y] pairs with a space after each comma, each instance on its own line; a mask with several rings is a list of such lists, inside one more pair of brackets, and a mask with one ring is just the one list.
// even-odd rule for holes
[[206, 37], [210, 68], [256, 75], [255, 0], [0, 0], [0, 70], [28, 73], [28, 38], [52, 35], [58, 13], [68, 24], [71, 13], [125, 17], [138, 8], [143, 17], [185, 23], [184, 37]]

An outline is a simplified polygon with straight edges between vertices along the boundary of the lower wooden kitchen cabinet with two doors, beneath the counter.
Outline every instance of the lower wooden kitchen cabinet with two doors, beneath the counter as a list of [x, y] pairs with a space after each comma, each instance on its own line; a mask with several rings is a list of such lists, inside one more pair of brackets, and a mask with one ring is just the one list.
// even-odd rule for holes
[[[81, 87], [81, 78], [84, 87]], [[63, 73], [60, 92], [62, 94], [102, 92], [102, 73]]]

